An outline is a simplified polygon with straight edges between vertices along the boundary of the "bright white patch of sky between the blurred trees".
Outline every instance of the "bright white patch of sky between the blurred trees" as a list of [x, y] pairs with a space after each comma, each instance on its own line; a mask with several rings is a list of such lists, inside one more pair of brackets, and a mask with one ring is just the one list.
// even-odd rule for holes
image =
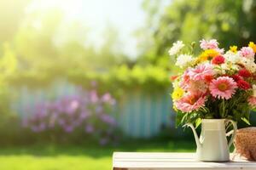
[[110, 23], [119, 31], [125, 54], [137, 55], [133, 32], [143, 26], [143, 0], [35, 0], [33, 8], [62, 8], [70, 20], [81, 20], [89, 26], [90, 39], [100, 43], [103, 29]]

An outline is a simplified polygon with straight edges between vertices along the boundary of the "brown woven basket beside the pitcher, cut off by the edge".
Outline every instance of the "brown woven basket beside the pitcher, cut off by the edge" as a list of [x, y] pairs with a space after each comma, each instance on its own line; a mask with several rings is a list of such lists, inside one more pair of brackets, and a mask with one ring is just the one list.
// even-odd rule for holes
[[256, 161], [256, 127], [247, 127], [237, 130], [234, 141], [234, 157]]

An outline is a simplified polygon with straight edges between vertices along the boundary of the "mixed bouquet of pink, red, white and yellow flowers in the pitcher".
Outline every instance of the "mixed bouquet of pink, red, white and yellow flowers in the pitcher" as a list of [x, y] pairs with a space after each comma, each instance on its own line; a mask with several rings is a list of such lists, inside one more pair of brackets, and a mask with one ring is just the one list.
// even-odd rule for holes
[[172, 77], [173, 108], [177, 126], [201, 119], [231, 119], [249, 124], [249, 114], [256, 107], [256, 44], [228, 51], [215, 39], [201, 40], [201, 54], [195, 55], [195, 42], [185, 46], [173, 43], [169, 54], [176, 58], [180, 74]]

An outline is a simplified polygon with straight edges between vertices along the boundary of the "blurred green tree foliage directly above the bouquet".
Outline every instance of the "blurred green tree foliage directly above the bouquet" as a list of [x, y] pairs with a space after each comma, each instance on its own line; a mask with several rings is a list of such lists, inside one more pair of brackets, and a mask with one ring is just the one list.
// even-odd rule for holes
[[[154, 3], [154, 0], [145, 0]], [[159, 12], [146, 8], [148, 16], [159, 15], [158, 22], [149, 20], [151, 30], [148, 51], [144, 58], [156, 63], [167, 55], [167, 49], [178, 39], [198, 42], [202, 38], [216, 38], [223, 48], [232, 44], [247, 45], [256, 39], [256, 2], [253, 0], [173, 0]], [[148, 44], [148, 42], [143, 42]], [[144, 45], [147, 47], [146, 45]]]

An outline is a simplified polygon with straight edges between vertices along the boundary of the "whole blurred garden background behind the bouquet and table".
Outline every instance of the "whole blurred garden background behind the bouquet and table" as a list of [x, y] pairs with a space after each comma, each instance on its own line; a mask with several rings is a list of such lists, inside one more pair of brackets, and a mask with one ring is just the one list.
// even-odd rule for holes
[[256, 2], [1, 0], [0, 169], [105, 170], [113, 151], [195, 150], [175, 127], [167, 51], [202, 38], [256, 42]]

